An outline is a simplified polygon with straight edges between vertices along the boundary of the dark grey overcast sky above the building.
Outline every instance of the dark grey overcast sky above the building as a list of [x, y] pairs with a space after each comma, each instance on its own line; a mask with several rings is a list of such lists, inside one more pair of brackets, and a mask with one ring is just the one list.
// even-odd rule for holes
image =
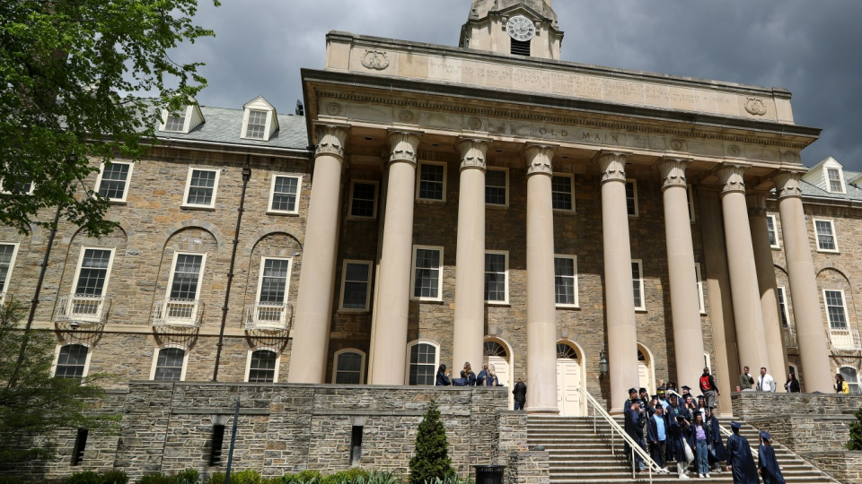
[[[470, 0], [201, 0], [215, 39], [183, 46], [207, 63], [207, 106], [263, 95], [279, 112], [302, 99], [299, 70], [321, 69], [326, 33], [454, 46]], [[862, 1], [554, 0], [563, 60], [787, 88], [796, 124], [823, 128], [803, 152], [862, 170]]]

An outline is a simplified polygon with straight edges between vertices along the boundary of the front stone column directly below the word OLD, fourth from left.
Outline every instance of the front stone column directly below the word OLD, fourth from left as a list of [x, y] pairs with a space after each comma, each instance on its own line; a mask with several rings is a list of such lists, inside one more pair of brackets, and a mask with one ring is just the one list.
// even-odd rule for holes
[[557, 406], [557, 299], [554, 295], [554, 208], [550, 188], [556, 146], [530, 145], [527, 160], [527, 408]]

